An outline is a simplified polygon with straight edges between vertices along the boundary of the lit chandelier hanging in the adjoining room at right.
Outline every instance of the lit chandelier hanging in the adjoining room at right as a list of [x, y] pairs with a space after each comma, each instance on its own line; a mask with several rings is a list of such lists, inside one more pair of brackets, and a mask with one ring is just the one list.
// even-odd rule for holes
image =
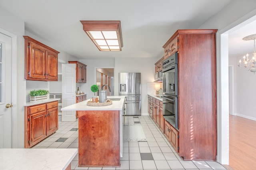
[[244, 55], [243, 60], [242, 60], [244, 63], [243, 67], [241, 65], [241, 63], [242, 63], [241, 59], [239, 60], [239, 64], [238, 64], [238, 67], [241, 70], [247, 70], [247, 71], [250, 70], [251, 72], [254, 72], [254, 74], [256, 72], [256, 68], [255, 68], [255, 65], [256, 65], [255, 39], [256, 39], [256, 34], [248, 35], [243, 38], [243, 40], [245, 40], [245, 41], [248, 41], [248, 40], [254, 41], [254, 52], [253, 52], [252, 59], [249, 58], [249, 54], [246, 54], [246, 56]]

